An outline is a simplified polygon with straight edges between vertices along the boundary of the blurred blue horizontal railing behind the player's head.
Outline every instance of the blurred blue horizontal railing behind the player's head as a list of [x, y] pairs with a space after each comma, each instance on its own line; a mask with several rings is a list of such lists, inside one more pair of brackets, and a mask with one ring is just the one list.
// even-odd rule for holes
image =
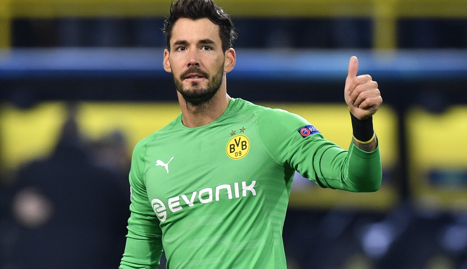
[[[359, 58], [359, 73], [370, 73], [377, 80], [467, 79], [465, 49], [236, 51], [239, 57], [229, 73], [230, 81], [341, 80], [347, 76], [352, 55]], [[0, 79], [124, 76], [171, 80], [163, 70], [162, 54], [163, 48], [0, 49]]]

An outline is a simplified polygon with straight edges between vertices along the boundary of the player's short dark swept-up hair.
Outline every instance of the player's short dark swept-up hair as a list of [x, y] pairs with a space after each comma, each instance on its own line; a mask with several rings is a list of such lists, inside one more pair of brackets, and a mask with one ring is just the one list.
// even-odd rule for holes
[[198, 20], [208, 18], [212, 23], [219, 26], [219, 36], [222, 42], [222, 51], [232, 47], [238, 34], [233, 27], [230, 15], [225, 13], [212, 0], [177, 0], [170, 5], [170, 16], [164, 22], [162, 29], [165, 34], [167, 49], [170, 51], [170, 37], [172, 28], [180, 18]]

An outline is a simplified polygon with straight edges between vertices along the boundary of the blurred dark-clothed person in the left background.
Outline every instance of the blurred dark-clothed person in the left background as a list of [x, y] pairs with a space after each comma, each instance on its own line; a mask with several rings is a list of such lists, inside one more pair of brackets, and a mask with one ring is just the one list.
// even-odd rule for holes
[[17, 173], [7, 268], [116, 268], [128, 205], [115, 173], [92, 163], [71, 108], [50, 157]]

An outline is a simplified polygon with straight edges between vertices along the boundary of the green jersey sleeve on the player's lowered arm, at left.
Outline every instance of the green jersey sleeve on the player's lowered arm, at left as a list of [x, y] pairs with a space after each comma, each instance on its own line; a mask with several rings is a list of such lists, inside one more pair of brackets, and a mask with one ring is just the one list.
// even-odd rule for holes
[[144, 183], [145, 144], [143, 139], [134, 147], [131, 159], [131, 214], [127, 226], [127, 243], [119, 269], [155, 269], [163, 251], [159, 220], [149, 204]]

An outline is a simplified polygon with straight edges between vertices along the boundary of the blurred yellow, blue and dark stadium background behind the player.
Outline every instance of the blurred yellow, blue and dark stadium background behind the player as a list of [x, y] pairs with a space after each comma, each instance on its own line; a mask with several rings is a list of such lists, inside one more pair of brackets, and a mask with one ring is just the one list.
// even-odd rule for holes
[[[227, 76], [232, 97], [295, 112], [347, 148], [350, 56], [382, 91], [381, 190], [319, 189], [297, 174], [283, 228], [288, 267], [467, 269], [467, 1], [217, 3], [240, 34]], [[87, 214], [117, 207], [100, 204], [114, 198], [104, 194], [109, 177], [66, 182], [79, 172], [41, 167], [57, 144], [79, 141], [89, 167], [110, 171], [114, 193], [127, 195], [122, 178], [133, 146], [179, 113], [162, 67], [169, 7], [170, 0], [0, 1], [0, 269], [35, 268], [28, 264], [51, 253], [68, 268], [118, 264], [97, 266], [102, 255], [85, 254], [104, 232], [77, 229], [99, 223]], [[96, 182], [106, 182], [101, 191], [83, 190]], [[80, 212], [87, 206], [80, 199], [92, 206]], [[127, 202], [119, 206], [127, 218]], [[103, 230], [125, 225], [107, 215]], [[120, 244], [121, 233], [105, 242]]]

